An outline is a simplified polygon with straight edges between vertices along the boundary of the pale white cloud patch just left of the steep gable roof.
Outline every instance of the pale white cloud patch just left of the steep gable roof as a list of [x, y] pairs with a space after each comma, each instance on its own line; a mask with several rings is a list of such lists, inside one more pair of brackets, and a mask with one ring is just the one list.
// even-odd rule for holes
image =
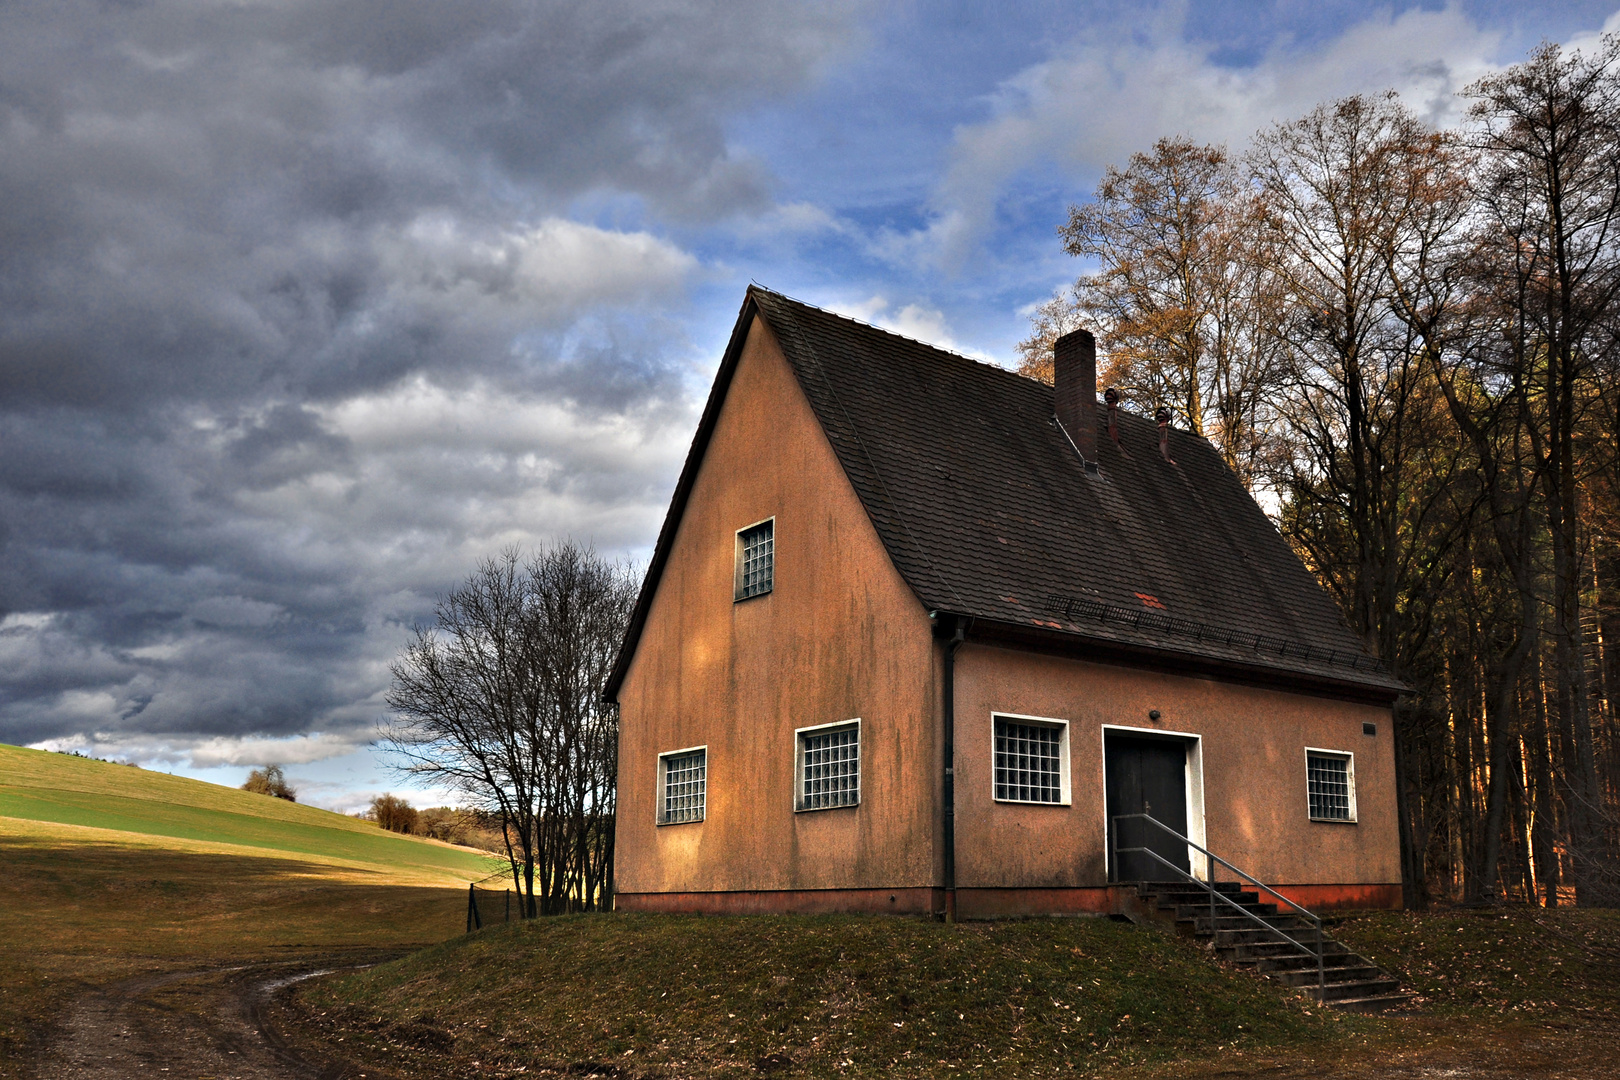
[[[313, 411], [353, 447], [352, 463], [241, 492], [238, 507], [288, 539], [324, 538], [348, 547], [334, 552], [343, 562], [386, 559], [423, 583], [561, 529], [604, 549], [651, 536], [692, 423], [685, 400], [598, 411], [421, 377]], [[418, 559], [429, 565], [407, 570]]]

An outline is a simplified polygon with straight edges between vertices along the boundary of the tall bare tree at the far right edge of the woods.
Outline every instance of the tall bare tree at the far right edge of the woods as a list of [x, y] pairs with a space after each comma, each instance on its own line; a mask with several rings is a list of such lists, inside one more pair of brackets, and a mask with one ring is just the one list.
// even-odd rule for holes
[[[1529, 60], [1469, 87], [1494, 233], [1494, 291], [1515, 298], [1511, 393], [1523, 418], [1552, 541], [1558, 724], [1580, 904], [1620, 902], [1605, 850], [1581, 628], [1581, 429], [1605, 416], [1620, 300], [1620, 40]], [[1599, 439], [1599, 444], [1612, 442]]]

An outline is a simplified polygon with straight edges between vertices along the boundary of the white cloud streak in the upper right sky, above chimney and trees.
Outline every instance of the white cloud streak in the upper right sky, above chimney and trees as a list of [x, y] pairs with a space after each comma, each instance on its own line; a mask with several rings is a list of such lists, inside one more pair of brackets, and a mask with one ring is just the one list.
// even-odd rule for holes
[[896, 266], [959, 266], [1027, 168], [1055, 164], [1089, 183], [1160, 136], [1241, 147], [1257, 130], [1346, 94], [1395, 89], [1430, 123], [1455, 123], [1456, 92], [1497, 66], [1502, 42], [1455, 6], [1383, 11], [1320, 49], [1278, 40], [1254, 66], [1231, 68], [1181, 31], [1179, 18], [1098, 26], [1008, 79], [991, 99], [993, 117], [956, 131], [928, 223], [881, 233], [875, 253]]

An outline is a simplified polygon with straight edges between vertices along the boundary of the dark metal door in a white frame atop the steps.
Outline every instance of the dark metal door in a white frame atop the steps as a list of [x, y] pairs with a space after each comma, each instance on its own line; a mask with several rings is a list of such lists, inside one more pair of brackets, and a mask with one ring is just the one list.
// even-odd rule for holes
[[[1110, 733], [1105, 743], [1108, 782], [1108, 839], [1121, 847], [1145, 847], [1187, 871], [1187, 845], [1145, 821], [1118, 823], [1119, 814], [1150, 814], [1187, 836], [1187, 745], [1171, 738], [1132, 738]], [[1118, 855], [1111, 881], [1171, 881], [1176, 874], [1142, 853]]]

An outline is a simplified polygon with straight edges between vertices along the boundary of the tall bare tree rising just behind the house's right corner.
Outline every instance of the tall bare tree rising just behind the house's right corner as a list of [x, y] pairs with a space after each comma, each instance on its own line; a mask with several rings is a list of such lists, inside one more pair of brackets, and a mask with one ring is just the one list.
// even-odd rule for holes
[[[1393, 94], [1319, 105], [1251, 151], [1262, 243], [1285, 295], [1273, 324], [1286, 355], [1285, 533], [1396, 672], [1426, 641], [1466, 517], [1452, 484], [1461, 449], [1440, 434], [1445, 403], [1427, 379], [1437, 342], [1403, 317], [1396, 280], [1426, 272], [1416, 254], [1450, 151]], [[1421, 308], [1427, 287], [1405, 288]], [[1406, 735], [1396, 709], [1401, 876], [1419, 904]]]

